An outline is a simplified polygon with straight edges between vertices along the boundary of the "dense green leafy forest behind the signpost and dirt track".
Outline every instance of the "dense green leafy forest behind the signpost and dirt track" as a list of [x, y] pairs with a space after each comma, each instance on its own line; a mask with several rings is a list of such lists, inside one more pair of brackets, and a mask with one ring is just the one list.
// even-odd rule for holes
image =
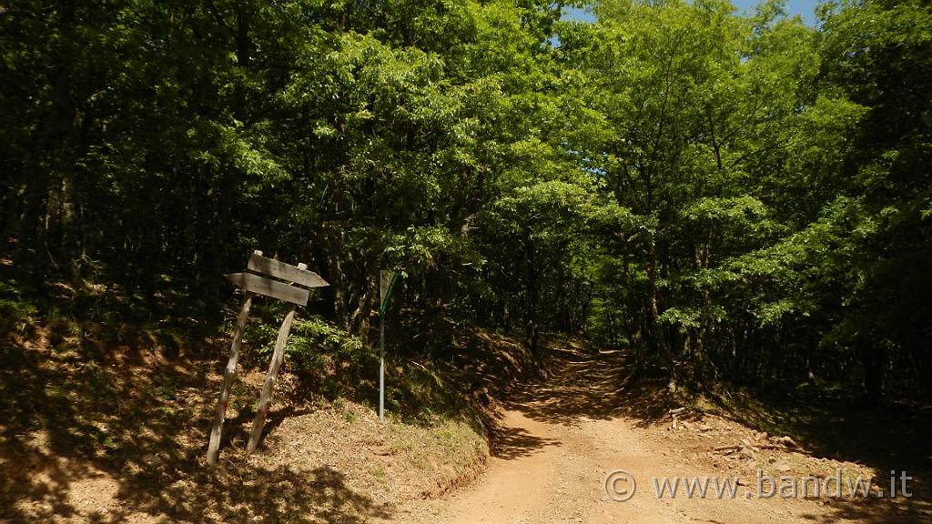
[[366, 344], [402, 271], [407, 354], [566, 333], [693, 391], [932, 393], [932, 5], [566, 7], [0, 1], [3, 315], [219, 325], [261, 249]]

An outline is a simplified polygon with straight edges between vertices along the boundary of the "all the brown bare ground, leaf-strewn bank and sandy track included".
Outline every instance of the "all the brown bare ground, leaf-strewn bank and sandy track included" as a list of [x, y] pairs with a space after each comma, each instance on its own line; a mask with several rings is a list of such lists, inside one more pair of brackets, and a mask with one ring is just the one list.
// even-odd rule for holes
[[[624, 390], [624, 355], [571, 344], [552, 349], [549, 377], [488, 401], [488, 446], [465, 421], [383, 424], [349, 401], [298, 401], [285, 373], [265, 439], [247, 454], [263, 373], [246, 372], [210, 468], [224, 359], [166, 356], [152, 340], [117, 335], [116, 351], [90, 359], [80, 343], [43, 330], [0, 345], [0, 393], [10, 406], [0, 421], [0, 522], [932, 521], [927, 472], [912, 474], [912, 497], [881, 498], [889, 475], [876, 466], [702, 410], [669, 416], [676, 397], [663, 389], [657, 398]], [[213, 356], [225, 345], [217, 341]], [[624, 481], [607, 490], [616, 470]], [[841, 471], [880, 483], [870, 497], [761, 498], [759, 470], [797, 479]], [[632, 488], [629, 477], [634, 496], [612, 501]], [[677, 477], [741, 484], [733, 498], [654, 494], [652, 479]]]

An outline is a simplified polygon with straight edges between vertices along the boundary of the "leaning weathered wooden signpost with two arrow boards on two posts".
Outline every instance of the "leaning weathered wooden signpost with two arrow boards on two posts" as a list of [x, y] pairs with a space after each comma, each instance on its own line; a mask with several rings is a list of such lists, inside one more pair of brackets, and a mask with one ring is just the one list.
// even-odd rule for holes
[[[255, 412], [255, 420], [253, 421], [253, 433], [250, 434], [249, 444], [246, 446], [246, 449], [251, 453], [259, 446], [262, 428], [266, 425], [268, 401], [272, 396], [272, 389], [275, 387], [275, 379], [279, 374], [281, 362], [284, 360], [285, 345], [288, 342], [288, 335], [291, 333], [291, 324], [295, 320], [295, 310], [298, 306], [308, 304], [308, 296], [310, 296], [308, 288], [330, 285], [317, 273], [308, 271], [308, 266], [305, 264], [290, 266], [263, 256], [261, 251], [256, 251], [253, 255], [250, 255], [247, 269], [262, 274], [231, 273], [225, 275], [232, 283], [245, 290], [245, 295], [242, 300], [242, 308], [240, 308], [240, 317], [236, 324], [236, 333], [233, 335], [230, 358], [224, 370], [224, 383], [220, 389], [220, 397], [217, 399], [217, 408], [213, 415], [211, 441], [207, 447], [207, 463], [211, 465], [217, 462], [217, 455], [220, 451], [220, 434], [223, 431], [224, 420], [226, 419], [230, 387], [233, 384], [233, 378], [236, 376], [236, 365], [237, 361], [240, 360], [242, 336], [246, 330], [246, 320], [249, 318], [249, 310], [253, 305], [253, 297], [262, 295], [279, 298], [288, 302], [288, 310], [285, 311], [285, 318], [281, 321], [279, 338], [276, 339], [275, 350], [272, 352], [272, 362], [268, 366], [266, 382], [259, 396], [259, 407]], [[262, 275], [268, 275], [285, 282]]]

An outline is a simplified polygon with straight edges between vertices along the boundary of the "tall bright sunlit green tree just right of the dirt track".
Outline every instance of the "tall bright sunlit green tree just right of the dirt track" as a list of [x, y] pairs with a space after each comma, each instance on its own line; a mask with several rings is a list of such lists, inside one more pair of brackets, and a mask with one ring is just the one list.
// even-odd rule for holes
[[[749, 303], [761, 275], [736, 268], [818, 217], [837, 186], [818, 168], [841, 164], [825, 153], [857, 118], [818, 90], [813, 30], [778, 3], [749, 19], [733, 11], [604, 2], [595, 26], [561, 34], [569, 67], [595, 85], [586, 100], [600, 126], [572, 147], [634, 217], [606, 238], [618, 262], [605, 266], [621, 272], [611, 281], [624, 283], [614, 295], [634, 360], [659, 359], [693, 385], [740, 376], [736, 348], [792, 316], [789, 297]], [[756, 362], [780, 351], [764, 346]]]

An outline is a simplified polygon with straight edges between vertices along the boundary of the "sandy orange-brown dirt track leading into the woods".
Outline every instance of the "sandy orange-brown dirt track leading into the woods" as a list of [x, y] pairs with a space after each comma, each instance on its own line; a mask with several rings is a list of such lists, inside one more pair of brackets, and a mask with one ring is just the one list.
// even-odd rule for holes
[[[916, 514], [854, 500], [758, 497], [761, 457], [716, 460], [710, 452], [717, 441], [748, 432], [747, 428], [727, 421], [705, 421], [703, 431], [690, 431], [689, 423], [686, 431], [682, 425], [672, 430], [668, 423], [645, 426], [624, 416], [618, 404], [624, 396], [613, 386], [621, 365], [618, 355], [564, 357], [566, 363], [554, 377], [529, 387], [506, 405], [487, 473], [473, 486], [413, 510], [409, 514], [413, 521], [776, 524], [915, 521], [914, 517], [928, 516], [928, 508]], [[617, 480], [610, 482], [609, 492], [607, 478], [617, 470], [625, 473], [612, 477]], [[726, 493], [721, 499], [711, 489], [705, 498], [688, 498], [681, 491], [676, 498], [668, 494], [661, 498], [652, 480], [736, 476], [744, 479], [743, 485], [733, 497]], [[637, 489], [630, 500], [611, 500], [610, 494], [624, 498], [632, 477]], [[771, 485], [761, 483], [761, 490], [766, 495]]]

